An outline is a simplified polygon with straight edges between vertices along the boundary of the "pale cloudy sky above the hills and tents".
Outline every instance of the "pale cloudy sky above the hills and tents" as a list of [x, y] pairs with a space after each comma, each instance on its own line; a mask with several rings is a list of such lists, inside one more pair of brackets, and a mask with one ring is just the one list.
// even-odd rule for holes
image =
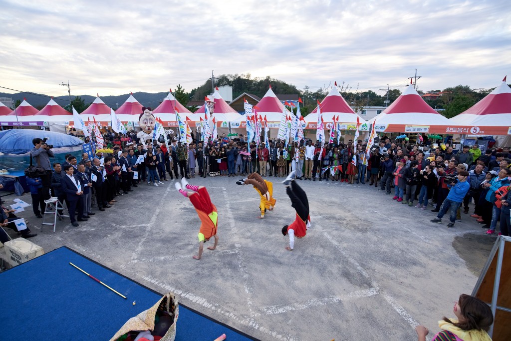
[[490, 88], [511, 77], [510, 18], [508, 0], [0, 0], [0, 86], [190, 90], [214, 70], [377, 91], [403, 87], [417, 69], [422, 90]]

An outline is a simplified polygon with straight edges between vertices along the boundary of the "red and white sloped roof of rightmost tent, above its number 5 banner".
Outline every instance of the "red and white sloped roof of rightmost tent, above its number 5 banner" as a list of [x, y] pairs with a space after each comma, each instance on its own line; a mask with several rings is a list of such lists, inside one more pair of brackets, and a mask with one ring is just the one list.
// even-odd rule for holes
[[463, 111], [463, 113], [471, 113], [472, 115], [511, 113], [511, 88], [505, 82], [502, 82], [490, 94]]

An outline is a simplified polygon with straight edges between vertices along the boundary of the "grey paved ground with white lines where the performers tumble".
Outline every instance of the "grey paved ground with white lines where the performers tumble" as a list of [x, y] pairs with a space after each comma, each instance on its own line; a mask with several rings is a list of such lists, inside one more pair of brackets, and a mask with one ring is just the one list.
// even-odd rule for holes
[[262, 220], [258, 194], [236, 179], [191, 180], [207, 187], [219, 212], [218, 248], [204, 249], [200, 261], [192, 259], [200, 222], [174, 181], [140, 185], [78, 228], [59, 222], [55, 234], [33, 225], [40, 220], [31, 208], [20, 216], [46, 252], [67, 245], [263, 340], [411, 340], [419, 323], [433, 335], [459, 294], [472, 292], [496, 239], [469, 215], [448, 229], [448, 217], [431, 223], [431, 208], [367, 184], [299, 181], [312, 226], [289, 252], [281, 229], [294, 210], [282, 178], [270, 178], [277, 203]]

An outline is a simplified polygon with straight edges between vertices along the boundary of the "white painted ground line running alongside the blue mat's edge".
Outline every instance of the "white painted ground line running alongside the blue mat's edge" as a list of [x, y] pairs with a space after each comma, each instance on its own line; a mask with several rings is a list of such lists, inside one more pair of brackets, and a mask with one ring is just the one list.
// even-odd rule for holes
[[201, 306], [203, 306], [203, 307], [205, 307], [207, 309], [210, 309], [210, 310], [212, 310], [214, 312], [220, 313], [220, 314], [228, 317], [229, 319], [234, 320], [237, 323], [240, 323], [240, 324], [242, 324], [244, 326], [248, 326], [248, 327], [253, 328], [255, 330], [259, 330], [260, 332], [262, 332], [264, 334], [267, 334], [267, 335], [270, 335], [270, 336], [276, 338], [277, 340], [282, 340], [282, 341], [298, 341], [298, 339], [295, 338], [292, 335], [289, 335], [289, 334], [283, 335], [283, 334], [278, 333], [276, 331], [272, 331], [272, 330], [270, 330], [270, 329], [268, 329], [266, 327], [263, 327], [259, 322], [254, 320], [252, 317], [249, 317], [249, 316], [244, 316], [244, 317], [238, 316], [235, 313], [233, 313], [233, 312], [223, 308], [222, 306], [220, 306], [220, 305], [218, 305], [216, 303], [210, 303], [205, 298], [202, 298], [202, 297], [200, 297], [198, 295], [195, 295], [195, 294], [193, 294], [191, 292], [185, 292], [185, 291], [173, 288], [170, 285], [168, 285], [166, 283], [161, 283], [157, 279], [149, 277], [149, 276], [142, 276], [142, 278], [145, 281], [148, 281], [149, 283], [164, 289], [166, 292], [173, 292], [174, 294], [178, 295], [182, 299], [187, 299], [187, 300], [189, 300], [189, 301], [191, 301], [193, 303], [199, 304], [199, 305], [201, 305]]

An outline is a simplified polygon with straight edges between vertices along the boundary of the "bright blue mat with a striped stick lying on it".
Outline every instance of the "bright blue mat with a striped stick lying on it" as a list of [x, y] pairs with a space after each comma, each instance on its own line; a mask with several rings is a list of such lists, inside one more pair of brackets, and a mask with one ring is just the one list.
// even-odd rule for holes
[[[108, 340], [163, 295], [67, 247], [1, 272], [0, 288], [0, 340]], [[179, 304], [176, 341], [213, 341], [223, 333], [228, 341], [255, 340]]]

